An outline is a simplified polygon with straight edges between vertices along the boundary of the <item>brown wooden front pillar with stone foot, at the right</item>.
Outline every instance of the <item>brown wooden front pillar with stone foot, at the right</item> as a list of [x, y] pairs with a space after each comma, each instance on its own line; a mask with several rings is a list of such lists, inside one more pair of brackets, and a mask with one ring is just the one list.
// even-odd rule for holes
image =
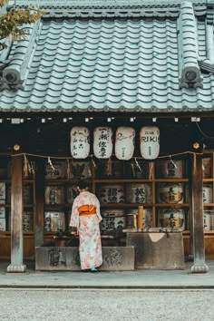
[[204, 231], [203, 231], [203, 170], [202, 155], [193, 154], [192, 164], [192, 223], [193, 223], [193, 256], [192, 273], [206, 273]]

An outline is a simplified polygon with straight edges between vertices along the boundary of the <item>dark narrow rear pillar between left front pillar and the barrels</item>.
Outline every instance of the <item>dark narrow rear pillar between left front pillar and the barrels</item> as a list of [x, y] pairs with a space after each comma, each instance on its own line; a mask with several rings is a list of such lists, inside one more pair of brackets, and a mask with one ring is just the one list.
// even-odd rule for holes
[[35, 247], [41, 247], [44, 244], [44, 176], [45, 161], [39, 159], [35, 166]]

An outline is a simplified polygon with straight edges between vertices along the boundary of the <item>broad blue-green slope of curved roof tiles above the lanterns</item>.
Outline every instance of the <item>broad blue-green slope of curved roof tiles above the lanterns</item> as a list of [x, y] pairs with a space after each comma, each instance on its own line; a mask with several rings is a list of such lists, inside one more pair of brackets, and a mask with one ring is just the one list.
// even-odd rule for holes
[[[214, 74], [201, 73], [197, 63], [207, 59], [206, 24], [194, 23], [198, 42], [180, 47], [176, 19], [43, 20], [26, 59], [24, 89], [0, 92], [1, 111], [212, 110]], [[190, 63], [196, 63], [203, 88], [180, 88], [179, 53], [189, 45], [198, 50]], [[8, 58], [22, 47], [14, 45]]]

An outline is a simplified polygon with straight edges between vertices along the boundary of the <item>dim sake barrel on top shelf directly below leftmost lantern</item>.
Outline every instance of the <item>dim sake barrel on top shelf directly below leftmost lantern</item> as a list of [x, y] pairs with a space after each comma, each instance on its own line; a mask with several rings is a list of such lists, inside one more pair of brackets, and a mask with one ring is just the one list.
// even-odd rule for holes
[[90, 161], [72, 161], [70, 163], [70, 178], [77, 180], [90, 179], [92, 168]]

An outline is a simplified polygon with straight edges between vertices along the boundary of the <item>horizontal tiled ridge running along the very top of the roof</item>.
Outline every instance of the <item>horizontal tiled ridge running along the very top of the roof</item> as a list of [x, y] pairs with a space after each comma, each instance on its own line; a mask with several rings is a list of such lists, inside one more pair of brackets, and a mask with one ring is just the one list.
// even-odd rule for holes
[[[44, 9], [45, 17], [178, 17], [182, 0], [37, 0], [35, 5]], [[16, 0], [20, 7], [30, 5], [29, 0]], [[195, 15], [205, 15], [207, 1], [190, 0]], [[10, 1], [10, 6], [14, 1]]]

